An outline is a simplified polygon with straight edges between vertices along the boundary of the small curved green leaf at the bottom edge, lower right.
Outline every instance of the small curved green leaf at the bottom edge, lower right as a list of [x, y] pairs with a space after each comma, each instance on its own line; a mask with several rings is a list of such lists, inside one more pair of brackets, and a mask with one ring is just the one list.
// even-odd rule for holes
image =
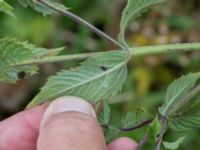
[[175, 149], [178, 149], [180, 144], [183, 143], [184, 139], [185, 139], [185, 136], [184, 137], [180, 137], [175, 142], [163, 142], [163, 146], [165, 148], [167, 148], [167, 149], [175, 150]]

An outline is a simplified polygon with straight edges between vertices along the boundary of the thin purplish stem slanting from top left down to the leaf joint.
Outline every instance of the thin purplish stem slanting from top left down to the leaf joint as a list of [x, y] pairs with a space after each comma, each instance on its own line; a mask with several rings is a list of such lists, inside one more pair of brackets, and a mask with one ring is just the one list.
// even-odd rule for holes
[[111, 43], [119, 46], [121, 49], [127, 49], [124, 45], [120, 44], [118, 41], [116, 41], [115, 39], [113, 39], [112, 37], [110, 37], [109, 35], [107, 35], [106, 33], [102, 32], [101, 30], [99, 30], [98, 28], [96, 28], [95, 26], [93, 26], [92, 24], [90, 24], [89, 22], [87, 22], [86, 20], [80, 18], [79, 16], [67, 11], [67, 10], [62, 10], [57, 8], [56, 6], [53, 6], [51, 3], [48, 3], [45, 0], [38, 0], [39, 3], [51, 8], [52, 10], [62, 14], [63, 16], [69, 17], [70, 19], [72, 19], [73, 21], [84, 25], [86, 27], [88, 27], [92, 32], [94, 32], [95, 34], [99, 35], [100, 37], [103, 37], [105, 39], [107, 39], [108, 41], [110, 41]]

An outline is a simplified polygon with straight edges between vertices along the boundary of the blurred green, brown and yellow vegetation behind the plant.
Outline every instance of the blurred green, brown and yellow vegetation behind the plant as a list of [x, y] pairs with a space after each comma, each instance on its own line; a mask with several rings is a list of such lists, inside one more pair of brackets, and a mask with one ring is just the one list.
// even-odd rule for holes
[[[91, 33], [88, 29], [58, 14], [44, 17], [32, 9], [23, 8], [17, 1], [8, 0], [14, 6], [18, 20], [0, 13], [0, 38], [15, 37], [47, 48], [66, 46], [62, 54], [96, 52], [116, 49]], [[126, 0], [68, 0], [62, 1], [70, 11], [117, 38], [121, 12]], [[171, 0], [155, 6], [132, 22], [127, 31], [132, 46], [200, 41], [200, 1]], [[200, 70], [200, 53], [170, 53], [156, 56], [134, 57], [129, 63], [129, 76], [121, 94], [113, 98], [112, 122], [119, 124], [127, 111], [138, 107], [155, 114], [163, 101], [167, 86], [181, 74]], [[41, 65], [40, 72], [27, 77], [16, 85], [0, 82], [0, 120], [24, 109], [39, 91], [48, 76], [60, 69], [78, 65], [78, 62], [62, 62]], [[119, 124], [120, 126], [120, 124]], [[139, 141], [145, 129], [123, 133]], [[182, 133], [169, 131], [165, 140], [175, 140]], [[180, 149], [199, 150], [200, 130], [187, 133]], [[151, 141], [146, 145], [152, 146]]]

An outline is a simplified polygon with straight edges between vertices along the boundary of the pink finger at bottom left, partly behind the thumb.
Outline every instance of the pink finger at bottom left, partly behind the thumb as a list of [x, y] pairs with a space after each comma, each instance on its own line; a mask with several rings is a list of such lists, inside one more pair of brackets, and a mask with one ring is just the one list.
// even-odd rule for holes
[[0, 122], [0, 150], [36, 150], [43, 104]]

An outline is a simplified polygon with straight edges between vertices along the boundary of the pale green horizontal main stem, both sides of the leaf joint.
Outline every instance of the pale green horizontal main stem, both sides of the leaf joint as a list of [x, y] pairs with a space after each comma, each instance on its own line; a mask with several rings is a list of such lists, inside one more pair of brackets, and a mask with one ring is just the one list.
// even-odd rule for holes
[[[145, 55], [153, 55], [153, 54], [161, 54], [161, 53], [169, 53], [169, 52], [182, 52], [182, 51], [197, 51], [200, 50], [200, 43], [187, 43], [187, 44], [167, 44], [167, 45], [156, 45], [156, 46], [144, 46], [144, 47], [135, 47], [131, 48], [132, 56], [145, 56]], [[29, 64], [43, 64], [49, 62], [60, 62], [60, 61], [68, 61], [68, 60], [82, 60], [92, 56], [95, 56], [100, 53], [105, 52], [93, 52], [93, 53], [84, 53], [84, 54], [72, 54], [72, 55], [64, 55], [64, 56], [49, 56], [44, 58], [34, 58], [24, 62], [20, 62], [19, 64], [13, 64], [14, 66], [19, 65], [29, 65]]]

